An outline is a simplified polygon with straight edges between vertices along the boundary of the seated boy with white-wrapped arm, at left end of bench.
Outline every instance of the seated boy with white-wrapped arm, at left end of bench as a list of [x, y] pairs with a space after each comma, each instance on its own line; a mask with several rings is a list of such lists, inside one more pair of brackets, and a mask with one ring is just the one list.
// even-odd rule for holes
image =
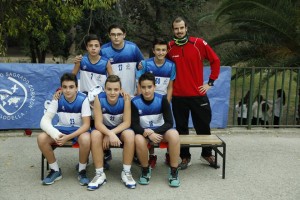
[[[76, 75], [66, 73], [61, 77], [62, 96], [52, 100], [41, 120], [41, 129], [45, 132], [37, 137], [38, 146], [50, 166], [49, 175], [43, 180], [44, 185], [51, 185], [62, 178], [61, 169], [54, 156], [51, 144], [64, 145], [68, 140], [79, 143], [78, 180], [80, 185], [87, 185], [86, 165], [90, 152], [90, 116], [91, 110], [86, 95], [78, 92]], [[58, 123], [52, 126], [52, 119], [58, 115]]]

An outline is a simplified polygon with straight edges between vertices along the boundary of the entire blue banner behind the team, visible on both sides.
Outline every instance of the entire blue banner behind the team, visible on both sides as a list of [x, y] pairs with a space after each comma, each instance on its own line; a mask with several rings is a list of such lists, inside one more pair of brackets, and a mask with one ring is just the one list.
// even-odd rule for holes
[[[40, 120], [60, 86], [60, 77], [73, 64], [0, 63], [0, 129], [39, 129]], [[205, 68], [208, 81], [210, 68]], [[212, 128], [225, 128], [228, 120], [231, 68], [221, 67], [208, 91]], [[189, 126], [193, 127], [192, 121]]]

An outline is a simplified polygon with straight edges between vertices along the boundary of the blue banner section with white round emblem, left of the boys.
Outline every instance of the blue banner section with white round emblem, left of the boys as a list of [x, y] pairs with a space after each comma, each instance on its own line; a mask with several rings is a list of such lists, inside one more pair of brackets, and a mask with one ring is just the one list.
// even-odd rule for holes
[[0, 129], [40, 128], [40, 120], [73, 64], [0, 63]]

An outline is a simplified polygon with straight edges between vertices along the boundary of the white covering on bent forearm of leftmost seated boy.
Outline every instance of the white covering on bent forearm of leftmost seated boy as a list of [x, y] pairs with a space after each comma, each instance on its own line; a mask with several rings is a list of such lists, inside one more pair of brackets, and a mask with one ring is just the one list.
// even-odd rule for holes
[[59, 138], [61, 132], [53, 127], [52, 119], [54, 117], [54, 113], [46, 112], [41, 120], [40, 126], [43, 131], [45, 131], [50, 137], [54, 140]]

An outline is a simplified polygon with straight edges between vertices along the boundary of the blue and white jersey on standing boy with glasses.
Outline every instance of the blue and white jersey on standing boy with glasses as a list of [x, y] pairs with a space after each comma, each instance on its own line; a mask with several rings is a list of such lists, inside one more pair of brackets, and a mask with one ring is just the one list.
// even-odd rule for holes
[[121, 79], [122, 88], [133, 97], [136, 89], [136, 66], [144, 59], [137, 45], [125, 40], [124, 47], [118, 50], [108, 42], [101, 47], [100, 55], [109, 59], [114, 74]]

